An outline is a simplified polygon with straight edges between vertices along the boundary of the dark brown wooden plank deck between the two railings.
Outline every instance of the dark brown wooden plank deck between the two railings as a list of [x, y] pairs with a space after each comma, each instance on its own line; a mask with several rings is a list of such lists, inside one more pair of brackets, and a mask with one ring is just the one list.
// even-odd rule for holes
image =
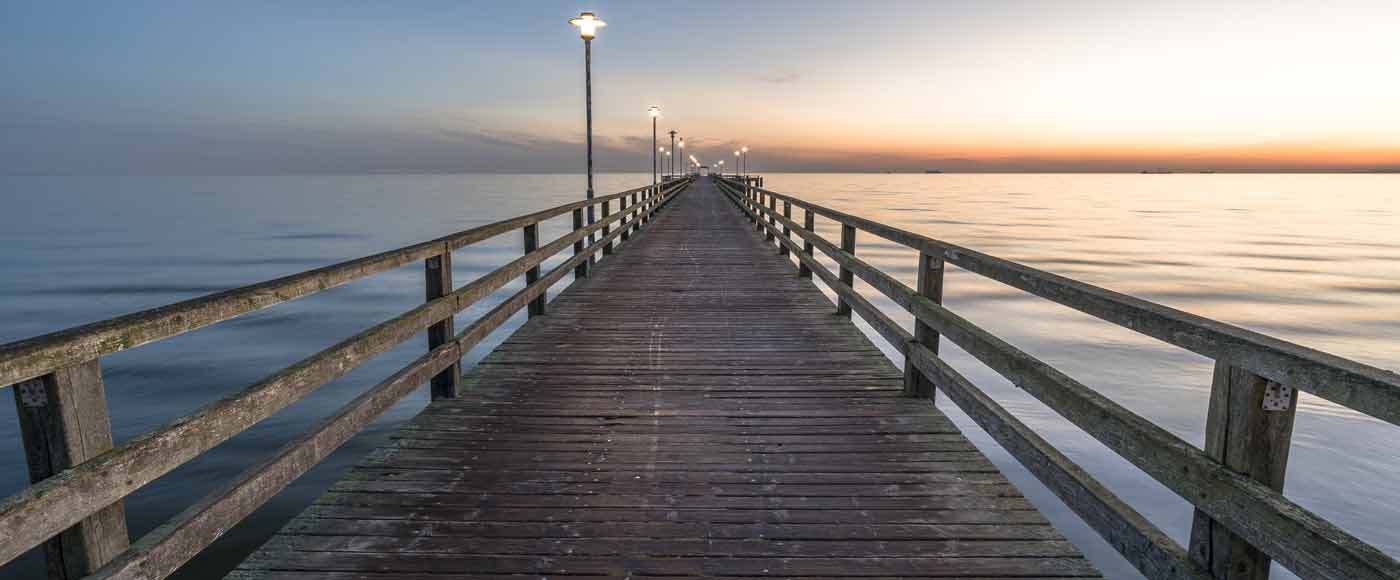
[[1099, 577], [701, 179], [235, 579]]

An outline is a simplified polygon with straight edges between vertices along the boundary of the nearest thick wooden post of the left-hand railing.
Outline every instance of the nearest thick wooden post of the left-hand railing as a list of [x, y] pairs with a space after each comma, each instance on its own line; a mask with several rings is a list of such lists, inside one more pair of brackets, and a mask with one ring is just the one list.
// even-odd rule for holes
[[[20, 417], [29, 483], [112, 448], [102, 364], [90, 360], [11, 388]], [[122, 502], [104, 507], [43, 544], [50, 580], [77, 580], [126, 549]]]

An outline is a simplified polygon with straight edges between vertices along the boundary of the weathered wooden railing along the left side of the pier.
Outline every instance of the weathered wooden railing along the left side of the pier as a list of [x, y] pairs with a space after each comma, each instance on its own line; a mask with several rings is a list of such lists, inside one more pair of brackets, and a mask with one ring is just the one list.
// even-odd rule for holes
[[[570, 270], [588, 276], [596, 254], [627, 240], [689, 184], [668, 181], [568, 203], [235, 290], [0, 346], [0, 385], [14, 384], [29, 488], [0, 502], [0, 565], [43, 545], [53, 579], [161, 579], [223, 535], [293, 479], [335, 451], [423, 382], [434, 398], [458, 395], [459, 359], [521, 308], [545, 314], [547, 290]], [[617, 202], [617, 213], [612, 203]], [[602, 219], [584, 224], [584, 209]], [[539, 245], [539, 224], [573, 214], [573, 231]], [[519, 230], [524, 255], [461, 287], [452, 251]], [[585, 240], [598, 241], [585, 247]], [[570, 259], [540, 263], [573, 245]], [[423, 261], [427, 301], [272, 375], [112, 447], [101, 357], [241, 314]], [[525, 287], [462, 332], [452, 315], [525, 276]], [[122, 499], [242, 433], [358, 364], [428, 331], [428, 352], [370, 388], [272, 457], [129, 544]]]

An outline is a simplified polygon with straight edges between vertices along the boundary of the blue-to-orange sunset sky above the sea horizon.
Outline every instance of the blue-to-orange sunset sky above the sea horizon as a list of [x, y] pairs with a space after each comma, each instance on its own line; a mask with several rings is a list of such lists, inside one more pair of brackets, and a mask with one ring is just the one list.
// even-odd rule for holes
[[1394, 0], [0, 0], [0, 174], [581, 172], [580, 10], [601, 171], [1400, 171]]

